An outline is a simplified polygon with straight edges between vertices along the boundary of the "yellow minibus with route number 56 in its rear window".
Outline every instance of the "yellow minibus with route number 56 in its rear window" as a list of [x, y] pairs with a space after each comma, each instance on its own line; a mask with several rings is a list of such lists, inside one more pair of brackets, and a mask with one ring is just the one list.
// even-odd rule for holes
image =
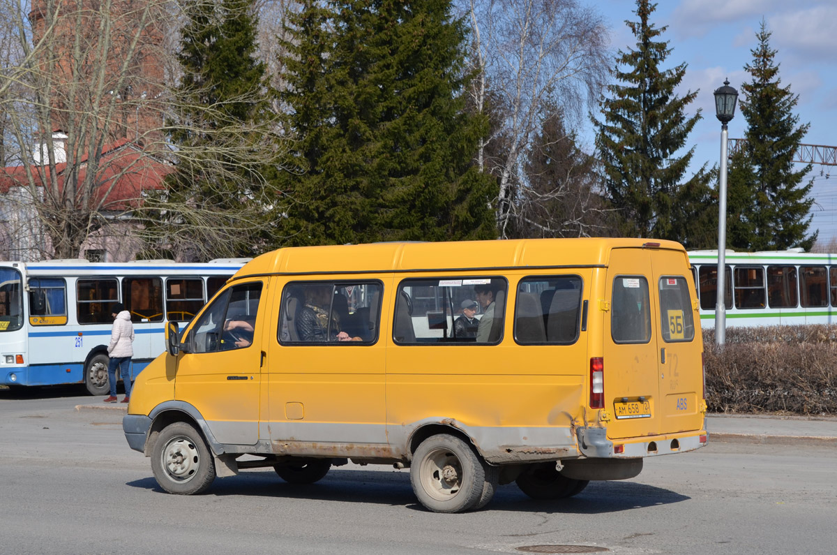
[[351, 460], [408, 468], [430, 511], [561, 499], [706, 445], [699, 323], [671, 241], [284, 248], [167, 325], [123, 429], [175, 494]]

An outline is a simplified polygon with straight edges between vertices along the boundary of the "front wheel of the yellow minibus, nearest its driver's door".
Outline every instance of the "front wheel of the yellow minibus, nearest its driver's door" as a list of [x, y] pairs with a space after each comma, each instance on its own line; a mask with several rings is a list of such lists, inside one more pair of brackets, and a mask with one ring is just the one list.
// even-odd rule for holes
[[215, 480], [215, 459], [192, 425], [176, 422], [163, 428], [151, 450], [151, 470], [169, 493], [193, 495]]

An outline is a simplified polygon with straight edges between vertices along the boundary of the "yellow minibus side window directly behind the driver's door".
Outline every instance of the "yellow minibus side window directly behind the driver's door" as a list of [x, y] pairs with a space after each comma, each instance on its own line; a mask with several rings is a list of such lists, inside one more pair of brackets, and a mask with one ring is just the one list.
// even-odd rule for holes
[[372, 345], [377, 341], [380, 282], [289, 283], [282, 292], [283, 345]]

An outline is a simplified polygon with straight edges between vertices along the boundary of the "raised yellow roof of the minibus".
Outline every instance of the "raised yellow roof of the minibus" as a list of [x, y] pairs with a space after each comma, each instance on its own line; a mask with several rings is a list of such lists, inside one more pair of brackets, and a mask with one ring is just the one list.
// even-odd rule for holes
[[267, 252], [248, 262], [245, 276], [321, 273], [486, 270], [514, 267], [604, 267], [614, 248], [683, 252], [675, 241], [633, 238], [514, 239], [506, 241], [388, 242], [363, 245], [296, 246]]

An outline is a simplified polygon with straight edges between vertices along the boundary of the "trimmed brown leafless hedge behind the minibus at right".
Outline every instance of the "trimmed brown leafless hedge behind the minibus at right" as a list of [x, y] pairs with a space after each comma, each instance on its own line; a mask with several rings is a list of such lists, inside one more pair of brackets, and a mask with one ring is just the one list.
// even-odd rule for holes
[[837, 414], [837, 325], [703, 332], [710, 412]]

